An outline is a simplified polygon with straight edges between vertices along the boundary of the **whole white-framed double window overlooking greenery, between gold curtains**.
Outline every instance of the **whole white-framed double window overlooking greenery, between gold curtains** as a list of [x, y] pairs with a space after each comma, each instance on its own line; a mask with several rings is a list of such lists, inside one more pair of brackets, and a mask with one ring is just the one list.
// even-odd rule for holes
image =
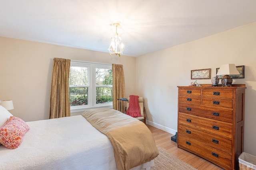
[[112, 107], [112, 65], [71, 61], [69, 89], [71, 112]]

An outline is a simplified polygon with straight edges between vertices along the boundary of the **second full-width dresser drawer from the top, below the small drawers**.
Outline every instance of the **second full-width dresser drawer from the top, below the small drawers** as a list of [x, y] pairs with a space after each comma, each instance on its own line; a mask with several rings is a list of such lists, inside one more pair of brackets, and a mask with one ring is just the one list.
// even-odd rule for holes
[[192, 127], [200, 131], [218, 135], [220, 137], [232, 138], [232, 124], [222, 121], [212, 120], [204, 117], [180, 113], [178, 117], [179, 125]]

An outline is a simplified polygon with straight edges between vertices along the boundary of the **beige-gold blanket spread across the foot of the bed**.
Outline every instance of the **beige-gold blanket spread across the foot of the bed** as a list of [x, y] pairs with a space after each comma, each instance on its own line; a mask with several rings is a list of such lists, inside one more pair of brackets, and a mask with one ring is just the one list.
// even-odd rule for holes
[[109, 108], [90, 109], [82, 116], [108, 136], [118, 170], [129, 170], [158, 156], [152, 133], [141, 121]]

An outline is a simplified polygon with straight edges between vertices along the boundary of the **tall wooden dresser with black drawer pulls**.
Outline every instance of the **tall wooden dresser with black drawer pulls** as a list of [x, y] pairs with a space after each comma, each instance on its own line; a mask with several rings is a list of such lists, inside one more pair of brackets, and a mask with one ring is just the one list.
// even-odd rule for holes
[[238, 170], [245, 89], [245, 84], [178, 86], [177, 146], [226, 170]]

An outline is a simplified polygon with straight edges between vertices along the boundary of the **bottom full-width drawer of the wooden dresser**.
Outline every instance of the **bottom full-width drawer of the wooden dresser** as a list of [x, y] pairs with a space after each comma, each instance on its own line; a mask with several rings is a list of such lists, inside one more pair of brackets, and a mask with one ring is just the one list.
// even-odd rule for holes
[[222, 152], [218, 149], [214, 149], [205, 143], [198, 142], [183, 135], [178, 135], [178, 145], [180, 148], [202, 156], [203, 158], [210, 160], [216, 165], [226, 169], [231, 169], [232, 167], [231, 154]]

